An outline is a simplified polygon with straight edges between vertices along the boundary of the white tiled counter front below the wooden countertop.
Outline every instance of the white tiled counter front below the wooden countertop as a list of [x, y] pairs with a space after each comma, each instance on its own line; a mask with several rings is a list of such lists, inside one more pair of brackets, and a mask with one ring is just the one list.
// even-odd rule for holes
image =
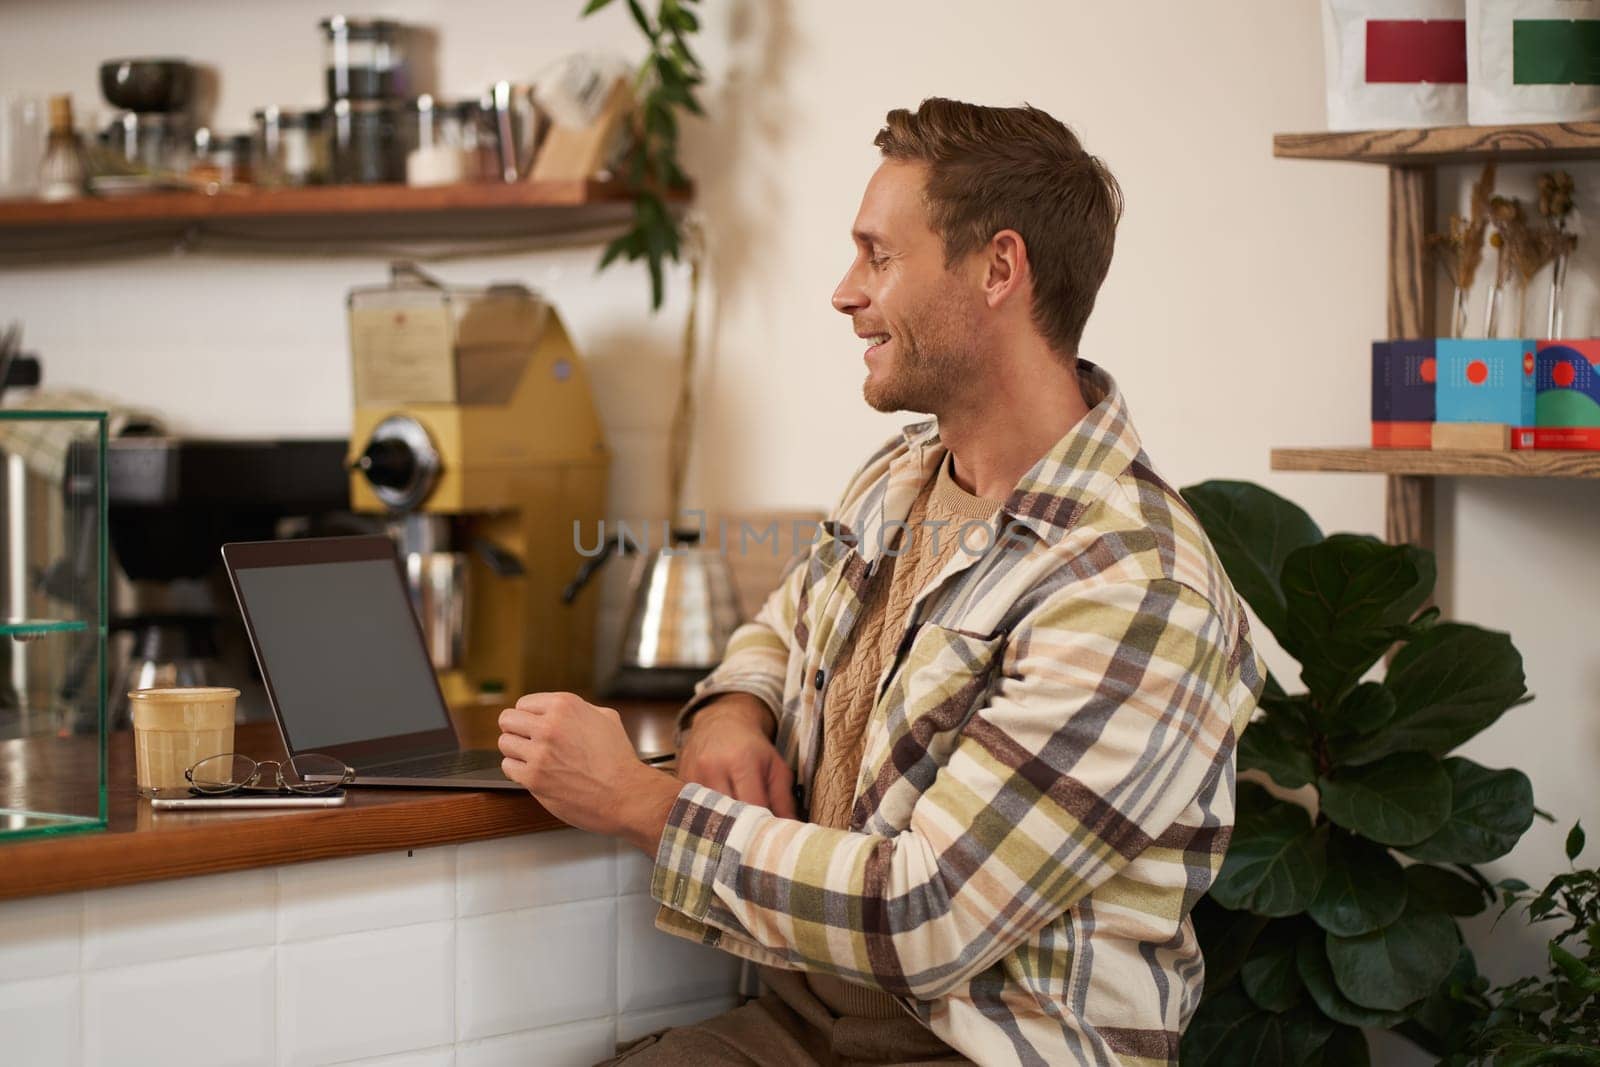
[[648, 888], [562, 830], [3, 901], [0, 1064], [594, 1064], [733, 1005]]

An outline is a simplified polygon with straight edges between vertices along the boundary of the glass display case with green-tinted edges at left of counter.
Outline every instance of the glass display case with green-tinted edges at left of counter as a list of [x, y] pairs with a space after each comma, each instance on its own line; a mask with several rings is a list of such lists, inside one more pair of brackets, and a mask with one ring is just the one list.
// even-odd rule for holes
[[0, 410], [0, 841], [106, 825], [106, 414]]

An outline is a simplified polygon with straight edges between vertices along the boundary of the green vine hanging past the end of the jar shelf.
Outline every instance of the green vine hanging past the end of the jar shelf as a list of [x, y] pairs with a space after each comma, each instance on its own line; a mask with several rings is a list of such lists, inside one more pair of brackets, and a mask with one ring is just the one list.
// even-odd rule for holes
[[[626, 2], [634, 22], [650, 40], [650, 51], [634, 78], [632, 138], [621, 174], [634, 197], [634, 222], [606, 245], [600, 270], [619, 258], [643, 259], [650, 267], [650, 307], [659, 310], [666, 293], [666, 262], [677, 262], [683, 250], [682, 224], [666, 200], [667, 190], [690, 184], [678, 166], [678, 117], [682, 112], [706, 114], [694, 98], [704, 72], [688, 45], [690, 35], [699, 30], [699, 18], [690, 6], [699, 0], [661, 0], [654, 18], [640, 0]], [[589, 0], [584, 18], [611, 3]]]

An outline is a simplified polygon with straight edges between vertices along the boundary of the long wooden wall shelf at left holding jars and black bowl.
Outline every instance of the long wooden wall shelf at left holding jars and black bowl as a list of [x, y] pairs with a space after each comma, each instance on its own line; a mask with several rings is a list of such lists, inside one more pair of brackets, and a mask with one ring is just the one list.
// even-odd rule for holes
[[[686, 200], [688, 190], [674, 197]], [[304, 189], [227, 189], [86, 197], [64, 203], [0, 200], [0, 230], [61, 229], [126, 222], [205, 222], [211, 219], [286, 219], [350, 216], [442, 216], [461, 213], [565, 211], [624, 206], [627, 190], [614, 182], [558, 181], [518, 184], [310, 186]]]

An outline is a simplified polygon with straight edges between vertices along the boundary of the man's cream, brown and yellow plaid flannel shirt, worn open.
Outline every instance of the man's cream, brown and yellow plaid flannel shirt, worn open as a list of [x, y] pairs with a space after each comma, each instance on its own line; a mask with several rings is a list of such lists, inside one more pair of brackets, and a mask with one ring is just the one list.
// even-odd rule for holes
[[[1227, 848], [1264, 672], [1115, 382], [1090, 363], [1080, 381], [1093, 410], [1005, 501], [995, 547], [917, 593], [850, 830], [686, 784], [656, 854], [661, 929], [888, 990], [981, 1064], [1178, 1061], [1203, 981], [1189, 910]], [[926, 421], [866, 462], [685, 717], [755, 694], [810, 785], [886, 531], [946, 451]]]

